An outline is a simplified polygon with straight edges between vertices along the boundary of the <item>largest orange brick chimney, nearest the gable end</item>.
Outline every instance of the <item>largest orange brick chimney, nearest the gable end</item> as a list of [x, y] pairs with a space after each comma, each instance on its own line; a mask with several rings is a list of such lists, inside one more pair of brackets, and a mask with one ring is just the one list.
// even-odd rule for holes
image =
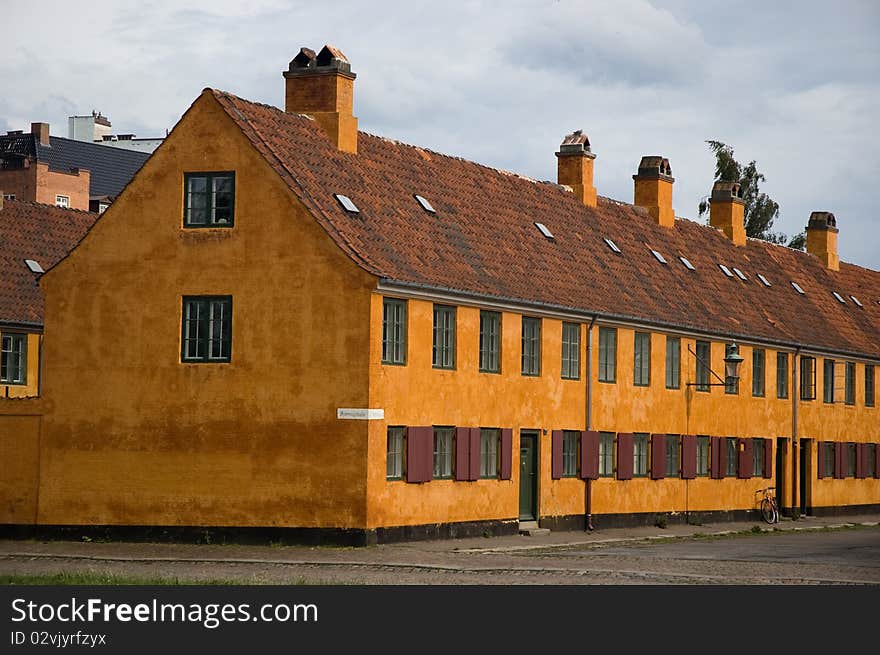
[[351, 64], [337, 48], [300, 48], [284, 71], [284, 111], [307, 114], [324, 128], [343, 152], [357, 154], [357, 118], [353, 115], [354, 78]]

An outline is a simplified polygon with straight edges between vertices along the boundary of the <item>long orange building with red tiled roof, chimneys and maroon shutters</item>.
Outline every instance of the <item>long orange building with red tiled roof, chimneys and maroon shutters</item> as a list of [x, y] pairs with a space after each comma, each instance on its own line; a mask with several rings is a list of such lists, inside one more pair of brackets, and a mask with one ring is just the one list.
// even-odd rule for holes
[[663, 157], [628, 204], [581, 132], [538, 182], [358, 131], [332, 47], [284, 78], [284, 110], [205, 89], [40, 279], [0, 523], [371, 543], [742, 518], [771, 486], [795, 518], [880, 508], [880, 273], [832, 213], [795, 251], [745, 237], [736, 185], [677, 218]]

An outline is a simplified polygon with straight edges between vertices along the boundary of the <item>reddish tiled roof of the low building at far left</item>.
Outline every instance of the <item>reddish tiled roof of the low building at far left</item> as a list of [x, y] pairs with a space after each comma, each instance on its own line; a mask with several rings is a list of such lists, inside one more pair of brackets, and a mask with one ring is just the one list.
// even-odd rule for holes
[[48, 271], [86, 235], [98, 214], [5, 200], [0, 209], [0, 323], [42, 326], [43, 294], [25, 259]]

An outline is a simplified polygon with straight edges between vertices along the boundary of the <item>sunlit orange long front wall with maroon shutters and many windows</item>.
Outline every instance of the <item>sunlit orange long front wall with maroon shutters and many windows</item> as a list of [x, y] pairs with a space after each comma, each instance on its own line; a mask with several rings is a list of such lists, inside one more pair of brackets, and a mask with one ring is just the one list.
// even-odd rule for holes
[[[580, 430], [586, 427], [586, 334], [581, 326], [581, 379], [562, 380], [562, 320], [542, 320], [542, 375], [520, 374], [521, 316], [505, 312], [502, 319], [502, 372], [478, 372], [479, 309], [459, 306], [457, 310], [457, 366], [454, 371], [431, 366], [432, 307], [428, 300], [410, 298], [407, 364], [381, 363], [382, 296], [373, 298], [371, 325], [370, 402], [385, 409], [385, 420], [370, 426], [370, 467], [368, 479], [368, 525], [410, 525], [462, 520], [515, 518], [519, 506], [517, 453], [520, 430], [539, 431], [539, 500], [541, 517], [584, 513], [585, 485], [576, 478], [551, 479], [551, 434], [553, 430]], [[752, 395], [752, 350], [740, 344], [744, 358], [739, 393], [727, 394], [723, 386], [708, 392], [689, 386], [696, 380], [694, 338], [681, 338], [681, 386], [667, 389], [666, 335], [651, 333], [650, 386], [633, 385], [634, 332], [617, 328], [617, 378], [613, 384], [598, 382], [598, 325], [593, 330], [592, 427], [599, 431], [700, 434], [710, 436], [758, 437], [773, 443], [773, 477], [721, 480], [698, 477], [652, 480], [650, 477], [617, 480], [602, 477], [592, 484], [591, 509], [594, 515], [618, 513], [700, 512], [752, 510], [760, 502], [759, 490], [775, 486], [781, 476], [782, 504], [791, 505], [791, 435], [795, 387], [791, 383], [791, 363], [787, 399], [776, 392], [776, 350], [765, 351], [765, 392]], [[648, 331], [648, 330], [645, 330]], [[711, 345], [710, 366], [723, 375], [724, 343]], [[857, 378], [863, 368], [857, 367]], [[863, 396], [863, 377], [862, 393]], [[712, 378], [710, 382], [717, 380]], [[819, 380], [821, 385], [821, 379]], [[837, 439], [835, 435], [859, 435], [857, 440], [880, 441], [876, 408], [864, 407], [863, 397], [855, 406], [833, 407], [827, 414], [812, 415], [810, 407], [798, 422], [799, 436]], [[815, 403], [814, 403], [815, 404]], [[453, 425], [466, 427], [510, 427], [514, 430], [512, 480], [457, 482], [437, 480], [412, 484], [385, 479], [386, 430], [388, 426]], [[546, 434], [545, 434], [546, 431]], [[783, 439], [786, 455], [778, 470], [776, 450]], [[856, 438], [853, 436], [850, 439]], [[809, 446], [810, 442], [801, 442]], [[815, 445], [812, 446], [815, 451]], [[816, 480], [815, 452], [808, 469], [808, 501], [816, 506], [852, 505], [880, 501], [876, 480]], [[649, 459], [650, 466], [650, 459]], [[800, 471], [798, 470], [798, 474]], [[826, 493], [824, 487], [835, 487]]]

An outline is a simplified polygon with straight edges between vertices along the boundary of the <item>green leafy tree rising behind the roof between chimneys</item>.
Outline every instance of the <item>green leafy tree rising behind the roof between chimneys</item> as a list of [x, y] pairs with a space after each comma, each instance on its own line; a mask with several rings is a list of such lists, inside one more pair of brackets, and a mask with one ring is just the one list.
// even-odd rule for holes
[[[803, 232], [789, 239], [782, 232], [773, 231], [773, 221], [779, 217], [779, 205], [760, 185], [765, 181], [764, 174], [758, 171], [755, 161], [746, 166], [733, 156], [733, 148], [720, 141], [706, 141], [715, 155], [715, 182], [739, 182], [745, 204], [744, 222], [746, 236], [763, 239], [770, 243], [788, 245], [789, 248], [803, 250], [806, 236]], [[709, 196], [700, 201], [700, 216], [709, 211]]]

